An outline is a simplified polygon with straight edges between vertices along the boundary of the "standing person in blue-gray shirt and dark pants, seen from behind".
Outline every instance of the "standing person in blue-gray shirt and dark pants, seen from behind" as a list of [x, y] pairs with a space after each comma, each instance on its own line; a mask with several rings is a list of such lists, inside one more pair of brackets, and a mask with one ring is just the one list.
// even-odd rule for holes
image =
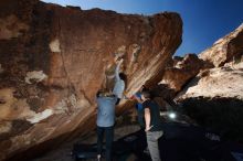
[[107, 90], [99, 90], [96, 96], [98, 111], [97, 111], [97, 160], [102, 158], [104, 133], [106, 137], [106, 161], [112, 160], [112, 144], [114, 138], [115, 125], [115, 104], [117, 101], [116, 95]]

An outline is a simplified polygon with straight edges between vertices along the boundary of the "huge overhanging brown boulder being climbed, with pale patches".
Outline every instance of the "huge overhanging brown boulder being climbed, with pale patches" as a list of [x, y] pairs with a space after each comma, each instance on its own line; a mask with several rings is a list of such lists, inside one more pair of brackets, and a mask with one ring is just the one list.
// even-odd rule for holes
[[102, 86], [113, 88], [114, 60], [125, 60], [131, 94], [158, 83], [181, 34], [177, 13], [142, 17], [2, 0], [0, 160], [93, 130], [95, 94]]

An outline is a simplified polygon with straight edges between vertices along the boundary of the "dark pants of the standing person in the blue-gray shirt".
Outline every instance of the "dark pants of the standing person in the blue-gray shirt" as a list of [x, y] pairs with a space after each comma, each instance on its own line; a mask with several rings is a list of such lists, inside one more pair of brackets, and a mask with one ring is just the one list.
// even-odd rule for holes
[[106, 139], [105, 158], [106, 161], [112, 161], [114, 127], [97, 127], [97, 154], [102, 154], [104, 132]]

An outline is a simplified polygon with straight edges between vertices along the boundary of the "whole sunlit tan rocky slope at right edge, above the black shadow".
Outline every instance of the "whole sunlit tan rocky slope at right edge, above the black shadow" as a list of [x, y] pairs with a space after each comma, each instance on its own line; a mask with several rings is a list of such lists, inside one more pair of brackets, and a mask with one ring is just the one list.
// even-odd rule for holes
[[204, 61], [213, 63], [179, 94], [178, 98], [223, 97], [243, 99], [243, 25], [216, 41], [213, 46], [200, 54]]

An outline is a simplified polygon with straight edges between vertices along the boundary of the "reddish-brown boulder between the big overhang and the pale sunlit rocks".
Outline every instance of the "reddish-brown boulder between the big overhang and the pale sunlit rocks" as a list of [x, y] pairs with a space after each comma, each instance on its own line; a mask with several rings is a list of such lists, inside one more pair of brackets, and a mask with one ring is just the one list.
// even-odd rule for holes
[[199, 73], [203, 67], [203, 61], [196, 54], [187, 54], [181, 61], [176, 58], [171, 65], [165, 69], [160, 84], [167, 84], [177, 93]]

